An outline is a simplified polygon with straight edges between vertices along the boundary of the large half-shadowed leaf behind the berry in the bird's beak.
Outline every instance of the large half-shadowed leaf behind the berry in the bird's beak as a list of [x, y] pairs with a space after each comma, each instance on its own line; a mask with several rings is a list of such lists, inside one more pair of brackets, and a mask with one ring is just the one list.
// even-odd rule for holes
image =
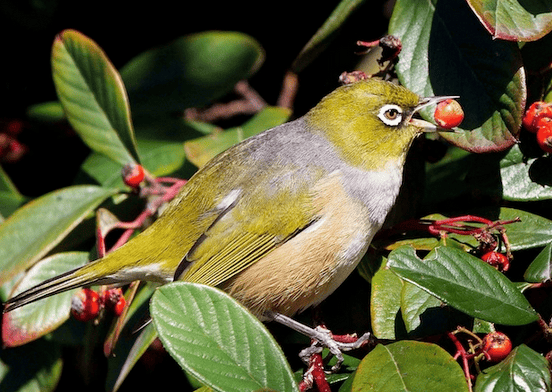
[[[400, 82], [422, 96], [459, 95], [465, 118], [441, 136], [473, 152], [516, 142], [525, 72], [515, 43], [493, 39], [463, 0], [398, 0], [389, 33], [402, 41]], [[432, 120], [433, 113], [422, 113]]]

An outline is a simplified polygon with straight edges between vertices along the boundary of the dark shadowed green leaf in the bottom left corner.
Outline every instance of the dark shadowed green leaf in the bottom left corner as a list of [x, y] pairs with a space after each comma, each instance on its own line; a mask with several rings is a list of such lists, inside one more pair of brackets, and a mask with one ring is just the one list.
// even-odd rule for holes
[[0, 350], [2, 392], [54, 391], [62, 368], [59, 345], [44, 339], [22, 347]]

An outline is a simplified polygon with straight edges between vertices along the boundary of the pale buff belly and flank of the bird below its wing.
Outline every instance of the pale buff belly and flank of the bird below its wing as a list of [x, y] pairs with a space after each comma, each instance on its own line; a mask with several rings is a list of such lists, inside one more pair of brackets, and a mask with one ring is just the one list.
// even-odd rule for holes
[[261, 319], [267, 310], [291, 316], [321, 302], [355, 269], [375, 234], [341, 173], [314, 194], [316, 221], [223, 285]]

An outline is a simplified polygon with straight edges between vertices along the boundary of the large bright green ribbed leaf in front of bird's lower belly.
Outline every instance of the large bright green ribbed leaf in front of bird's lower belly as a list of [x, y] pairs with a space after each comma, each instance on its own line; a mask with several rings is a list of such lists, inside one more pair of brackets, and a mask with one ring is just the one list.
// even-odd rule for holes
[[217, 391], [298, 391], [270, 333], [222, 291], [189, 282], [160, 287], [151, 314], [165, 349]]

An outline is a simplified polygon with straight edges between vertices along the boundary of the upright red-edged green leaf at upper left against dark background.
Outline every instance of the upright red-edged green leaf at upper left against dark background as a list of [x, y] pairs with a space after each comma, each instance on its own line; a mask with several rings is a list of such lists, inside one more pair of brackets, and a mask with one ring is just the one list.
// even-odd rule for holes
[[54, 41], [52, 69], [67, 119], [83, 141], [122, 165], [139, 162], [125, 87], [102, 49], [65, 30]]

